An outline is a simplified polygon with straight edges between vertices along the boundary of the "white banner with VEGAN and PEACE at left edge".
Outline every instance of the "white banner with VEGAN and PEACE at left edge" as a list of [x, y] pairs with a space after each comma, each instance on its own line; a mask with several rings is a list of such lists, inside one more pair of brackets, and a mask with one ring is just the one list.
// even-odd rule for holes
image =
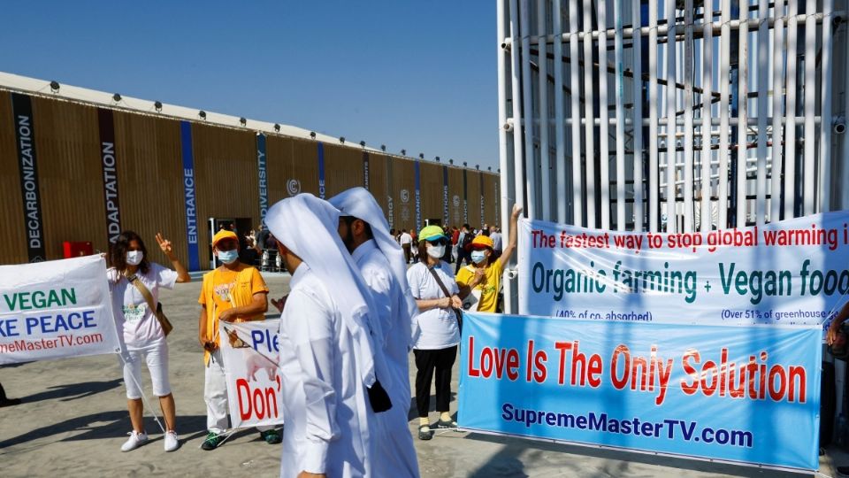
[[120, 351], [100, 256], [0, 266], [0, 365]]

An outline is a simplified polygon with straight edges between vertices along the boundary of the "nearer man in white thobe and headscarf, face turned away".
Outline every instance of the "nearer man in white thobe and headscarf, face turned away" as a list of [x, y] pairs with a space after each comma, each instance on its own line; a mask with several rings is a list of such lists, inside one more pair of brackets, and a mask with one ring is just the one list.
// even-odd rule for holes
[[310, 194], [284, 199], [265, 218], [292, 274], [280, 317], [281, 477], [374, 476], [381, 443], [369, 389], [392, 380], [371, 293], [343, 251], [339, 211]]

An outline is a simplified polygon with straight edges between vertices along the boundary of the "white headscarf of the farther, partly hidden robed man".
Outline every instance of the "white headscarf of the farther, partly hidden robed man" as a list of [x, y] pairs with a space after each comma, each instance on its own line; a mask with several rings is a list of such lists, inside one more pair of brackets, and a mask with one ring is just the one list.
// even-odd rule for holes
[[395, 241], [392, 235], [389, 235], [389, 224], [386, 223], [383, 210], [380, 209], [378, 202], [365, 188], [348, 189], [331, 197], [329, 201], [342, 214], [354, 216], [371, 226], [371, 235], [374, 236], [374, 242], [378, 244], [378, 249], [389, 261], [392, 275], [394, 275], [395, 281], [398, 281], [398, 285], [401, 286], [407, 304], [407, 310], [403, 311], [407, 315], [406, 319], [411, 320], [416, 317], [418, 313], [416, 299], [409, 293], [409, 284], [407, 283], [407, 260], [404, 258], [401, 245]]

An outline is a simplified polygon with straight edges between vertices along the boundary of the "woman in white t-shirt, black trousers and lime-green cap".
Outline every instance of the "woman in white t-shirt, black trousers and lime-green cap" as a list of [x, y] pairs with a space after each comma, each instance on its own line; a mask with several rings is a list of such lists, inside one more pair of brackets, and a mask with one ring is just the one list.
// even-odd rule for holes
[[[460, 328], [453, 309], [463, 302], [457, 297], [459, 289], [454, 272], [441, 258], [449, 243], [439, 226], [424, 227], [418, 235], [418, 262], [407, 270], [409, 289], [416, 297], [420, 333], [413, 343], [416, 356], [416, 406], [418, 409], [418, 438], [430, 440], [432, 430], [427, 412], [430, 407], [431, 382], [436, 375], [436, 411], [440, 420], [436, 428], [456, 428], [457, 423], [448, 413], [451, 401], [451, 367], [457, 358]], [[440, 279], [433, 276], [435, 273]], [[447, 294], [440, 286], [445, 286]]]

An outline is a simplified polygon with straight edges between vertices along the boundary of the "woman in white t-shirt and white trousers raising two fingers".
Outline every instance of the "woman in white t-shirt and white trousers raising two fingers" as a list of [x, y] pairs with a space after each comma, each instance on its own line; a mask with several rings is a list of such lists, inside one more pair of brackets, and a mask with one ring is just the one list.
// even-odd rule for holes
[[148, 300], [134, 279], [149, 291], [154, 305], [159, 301], [159, 288], [173, 289], [175, 282], [188, 282], [191, 278], [186, 267], [172, 250], [171, 241], [157, 234], [160, 249], [171, 260], [173, 271], [149, 262], [148, 250], [142, 238], [133, 231], [124, 231], [112, 244], [109, 252], [109, 269], [106, 271], [112, 297], [112, 309], [119, 337], [126, 346], [121, 357], [126, 386], [126, 403], [133, 431], [121, 451], [135, 450], [148, 441], [142, 422], [142, 359], [147, 362], [153, 393], [159, 397], [159, 406], [165, 420], [165, 451], [180, 447], [175, 428], [176, 411], [171, 384], [168, 382], [168, 343], [157, 320], [156, 310], [151, 310]]

